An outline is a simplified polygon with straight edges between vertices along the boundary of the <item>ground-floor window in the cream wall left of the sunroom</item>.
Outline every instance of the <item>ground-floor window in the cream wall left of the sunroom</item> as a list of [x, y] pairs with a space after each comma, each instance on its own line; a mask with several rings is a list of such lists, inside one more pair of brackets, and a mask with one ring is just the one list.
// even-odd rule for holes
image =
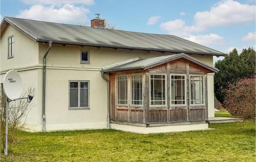
[[89, 109], [89, 81], [69, 81], [69, 109]]

